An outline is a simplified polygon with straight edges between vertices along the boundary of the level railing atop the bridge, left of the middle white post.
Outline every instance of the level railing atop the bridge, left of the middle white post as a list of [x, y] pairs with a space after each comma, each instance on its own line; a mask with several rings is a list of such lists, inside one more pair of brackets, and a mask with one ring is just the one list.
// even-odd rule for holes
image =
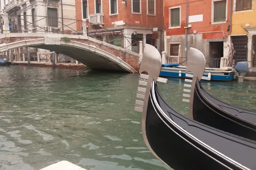
[[[26, 17], [26, 20], [24, 20], [24, 17]], [[55, 34], [81, 34], [81, 30], [77, 31], [76, 27], [81, 28], [83, 24], [82, 20], [63, 18], [67, 24], [62, 24], [62, 18], [60, 17], [32, 15], [10, 15], [9, 20], [11, 21], [12, 25], [10, 32], [14, 33], [44, 32]], [[34, 20], [34, 22], [32, 22], [32, 20]]]

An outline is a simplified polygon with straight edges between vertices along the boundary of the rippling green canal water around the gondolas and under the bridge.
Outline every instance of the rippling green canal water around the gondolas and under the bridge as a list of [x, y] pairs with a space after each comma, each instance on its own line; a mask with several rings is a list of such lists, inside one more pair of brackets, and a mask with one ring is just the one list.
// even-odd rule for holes
[[[141, 113], [134, 111], [138, 79], [139, 74], [1, 67], [0, 169], [38, 170], [61, 160], [87, 170], [168, 169], [143, 142]], [[158, 86], [188, 116], [183, 83], [169, 78]], [[256, 109], [253, 81], [202, 83], [224, 102]]]

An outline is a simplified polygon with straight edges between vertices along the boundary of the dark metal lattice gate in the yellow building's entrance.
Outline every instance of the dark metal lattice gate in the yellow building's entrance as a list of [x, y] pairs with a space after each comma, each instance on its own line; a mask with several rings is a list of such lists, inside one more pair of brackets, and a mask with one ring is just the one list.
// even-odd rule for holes
[[248, 37], [245, 36], [233, 36], [232, 37], [232, 43], [234, 45], [235, 53], [235, 63], [241, 62], [241, 61], [247, 61], [247, 43], [248, 43]]

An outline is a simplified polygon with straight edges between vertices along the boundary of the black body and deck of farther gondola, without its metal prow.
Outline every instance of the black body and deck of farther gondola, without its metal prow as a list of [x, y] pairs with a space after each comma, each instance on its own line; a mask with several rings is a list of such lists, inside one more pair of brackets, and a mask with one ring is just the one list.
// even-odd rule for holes
[[215, 99], [196, 80], [193, 119], [248, 139], [256, 140], [256, 112]]

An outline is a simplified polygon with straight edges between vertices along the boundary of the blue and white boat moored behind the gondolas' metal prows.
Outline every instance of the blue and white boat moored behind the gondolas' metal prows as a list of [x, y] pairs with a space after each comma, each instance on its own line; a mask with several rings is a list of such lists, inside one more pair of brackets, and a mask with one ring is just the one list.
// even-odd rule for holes
[[[224, 71], [225, 70], [225, 71]], [[177, 66], [177, 67], [162, 67], [160, 76], [162, 77], [181, 77], [189, 78], [188, 73], [186, 75], [186, 66]], [[232, 68], [220, 69], [220, 68], [205, 68], [204, 77], [208, 77], [208, 80], [221, 80], [221, 81], [231, 81], [236, 79], [237, 72]]]

